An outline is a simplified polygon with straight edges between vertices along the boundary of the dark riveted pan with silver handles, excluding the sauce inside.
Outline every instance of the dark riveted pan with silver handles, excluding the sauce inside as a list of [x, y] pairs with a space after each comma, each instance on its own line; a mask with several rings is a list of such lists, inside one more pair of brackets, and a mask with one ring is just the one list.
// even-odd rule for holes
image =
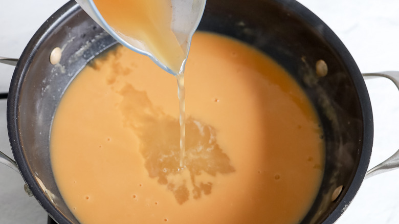
[[[293, 0], [208, 0], [198, 30], [231, 36], [270, 55], [311, 99], [324, 131], [325, 167], [317, 197], [301, 223], [335, 222], [365, 178], [373, 141], [369, 95], [348, 50], [323, 21]], [[116, 44], [71, 1], [40, 27], [16, 63], [7, 102], [16, 164], [4, 154], [0, 161], [20, 172], [26, 191], [58, 223], [79, 222], [53, 177], [52, 119], [73, 78]], [[385, 76], [399, 85], [397, 73], [367, 75]], [[369, 176], [395, 168], [394, 159], [371, 170]]]

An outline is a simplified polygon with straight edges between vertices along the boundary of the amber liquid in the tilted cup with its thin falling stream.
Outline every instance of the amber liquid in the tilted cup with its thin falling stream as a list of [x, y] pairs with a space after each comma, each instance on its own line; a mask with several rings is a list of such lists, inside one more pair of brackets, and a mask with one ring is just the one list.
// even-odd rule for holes
[[159, 0], [94, 0], [97, 9], [117, 33], [139, 40], [159, 61], [173, 71], [178, 81], [180, 106], [180, 167], [184, 167], [186, 145], [184, 64], [187, 59], [170, 26], [173, 7]]

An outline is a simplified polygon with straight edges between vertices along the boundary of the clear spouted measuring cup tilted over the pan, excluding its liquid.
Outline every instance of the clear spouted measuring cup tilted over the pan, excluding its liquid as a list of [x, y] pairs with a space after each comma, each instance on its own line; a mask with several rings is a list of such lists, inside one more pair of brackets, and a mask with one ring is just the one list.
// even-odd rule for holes
[[206, 3], [206, 0], [171, 0], [172, 19], [170, 29], [175, 35], [176, 40], [179, 42], [180, 47], [183, 50], [183, 54], [186, 58], [181, 65], [180, 71], [176, 72], [176, 70], [171, 69], [170, 66], [165, 64], [165, 62], [162, 62], [159, 58], [154, 56], [154, 52], [150, 51], [147, 43], [126, 36], [115, 30], [113, 27], [109, 26], [103, 16], [100, 14], [93, 0], [75, 1], [90, 17], [92, 17], [96, 21], [97, 24], [99, 24], [118, 42], [120, 42], [130, 50], [148, 56], [163, 70], [172, 75], [177, 75], [178, 73], [184, 71], [184, 65], [186, 63], [187, 55], [190, 49], [191, 37], [194, 34], [198, 24], [200, 23]]

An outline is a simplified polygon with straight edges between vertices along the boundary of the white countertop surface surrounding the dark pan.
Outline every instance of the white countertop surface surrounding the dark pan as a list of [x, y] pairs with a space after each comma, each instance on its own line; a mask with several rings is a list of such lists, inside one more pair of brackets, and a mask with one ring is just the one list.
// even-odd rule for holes
[[[209, 0], [211, 1], [211, 0]], [[66, 0], [2, 1], [0, 55], [18, 58], [31, 36]], [[399, 71], [399, 1], [300, 0], [343, 41], [363, 73]], [[13, 67], [0, 64], [0, 92], [7, 92]], [[399, 149], [399, 92], [388, 80], [366, 80], [374, 114], [370, 167]], [[12, 156], [5, 100], [0, 101], [0, 149]], [[0, 223], [47, 223], [46, 212], [23, 189], [22, 178], [0, 164]], [[399, 170], [366, 180], [336, 222], [399, 223]]]

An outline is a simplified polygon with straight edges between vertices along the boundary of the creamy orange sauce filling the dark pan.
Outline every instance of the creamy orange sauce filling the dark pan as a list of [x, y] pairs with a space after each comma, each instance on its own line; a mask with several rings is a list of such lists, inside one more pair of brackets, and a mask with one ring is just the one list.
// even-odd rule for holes
[[298, 223], [321, 183], [312, 104], [271, 58], [196, 33], [180, 169], [175, 78], [123, 47], [66, 90], [51, 132], [57, 186], [91, 223]]

